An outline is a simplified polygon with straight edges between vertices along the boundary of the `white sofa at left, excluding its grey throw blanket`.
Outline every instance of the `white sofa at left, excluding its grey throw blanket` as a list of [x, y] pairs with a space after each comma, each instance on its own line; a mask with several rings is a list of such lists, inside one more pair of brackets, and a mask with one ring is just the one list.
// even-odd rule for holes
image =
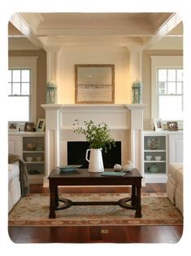
[[8, 211], [20, 200], [20, 163], [8, 164]]

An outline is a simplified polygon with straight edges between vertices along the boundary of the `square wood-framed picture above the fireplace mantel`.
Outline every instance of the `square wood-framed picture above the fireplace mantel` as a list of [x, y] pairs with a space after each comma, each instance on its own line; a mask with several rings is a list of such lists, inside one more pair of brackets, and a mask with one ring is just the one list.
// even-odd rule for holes
[[75, 103], [114, 104], [115, 65], [76, 64]]

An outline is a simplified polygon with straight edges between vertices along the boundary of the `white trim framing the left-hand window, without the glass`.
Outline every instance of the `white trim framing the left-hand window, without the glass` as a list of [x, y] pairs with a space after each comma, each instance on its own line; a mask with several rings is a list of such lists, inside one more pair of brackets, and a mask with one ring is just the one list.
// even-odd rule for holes
[[31, 86], [30, 86], [30, 105], [29, 121], [37, 120], [37, 56], [16, 56], [9, 57], [9, 68], [30, 68], [31, 69]]

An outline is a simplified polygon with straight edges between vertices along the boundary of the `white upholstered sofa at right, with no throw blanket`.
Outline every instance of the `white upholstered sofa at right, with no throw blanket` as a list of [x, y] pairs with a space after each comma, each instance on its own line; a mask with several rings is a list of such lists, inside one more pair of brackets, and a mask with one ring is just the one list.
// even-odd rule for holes
[[183, 163], [168, 166], [167, 197], [183, 214]]

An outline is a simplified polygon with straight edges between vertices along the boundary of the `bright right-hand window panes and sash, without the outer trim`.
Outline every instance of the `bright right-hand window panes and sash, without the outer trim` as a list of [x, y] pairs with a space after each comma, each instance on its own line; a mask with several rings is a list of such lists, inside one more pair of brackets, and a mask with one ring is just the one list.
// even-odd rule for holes
[[158, 68], [158, 118], [183, 119], [183, 69]]

